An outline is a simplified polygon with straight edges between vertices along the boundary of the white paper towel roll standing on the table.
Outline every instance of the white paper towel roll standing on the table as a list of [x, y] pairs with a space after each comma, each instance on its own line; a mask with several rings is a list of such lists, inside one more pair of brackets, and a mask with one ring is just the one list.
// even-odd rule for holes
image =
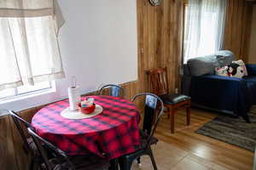
[[69, 107], [71, 111], [78, 110], [78, 103], [81, 101], [81, 96], [79, 94], [79, 87], [76, 88], [68, 88], [68, 99], [69, 99]]

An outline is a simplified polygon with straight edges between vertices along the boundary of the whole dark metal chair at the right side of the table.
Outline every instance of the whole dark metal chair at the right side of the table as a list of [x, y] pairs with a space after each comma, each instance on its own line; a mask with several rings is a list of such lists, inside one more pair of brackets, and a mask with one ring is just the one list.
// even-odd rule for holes
[[140, 130], [141, 144], [137, 146], [135, 152], [119, 158], [119, 164], [122, 170], [130, 170], [132, 162], [137, 160], [140, 163], [140, 157], [145, 155], [150, 157], [154, 170], [157, 170], [151, 145], [158, 142], [158, 139], [154, 138], [154, 131], [160, 122], [160, 117], [164, 115], [164, 104], [157, 95], [148, 93], [137, 94], [131, 101], [135, 101], [135, 99], [141, 96], [146, 96], [143, 129]]

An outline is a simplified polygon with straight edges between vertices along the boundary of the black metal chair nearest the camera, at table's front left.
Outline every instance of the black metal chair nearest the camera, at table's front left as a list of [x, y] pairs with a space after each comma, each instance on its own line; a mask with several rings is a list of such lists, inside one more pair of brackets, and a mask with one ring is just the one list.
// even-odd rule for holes
[[[44, 160], [41, 168], [46, 170], [107, 170], [108, 161], [93, 155], [86, 156], [67, 156], [64, 151], [57, 148], [54, 144], [50, 144], [47, 140], [38, 136], [31, 127], [27, 128], [31, 134], [38, 152]], [[49, 159], [43, 145], [47, 145], [50, 150], [55, 152], [55, 158]]]

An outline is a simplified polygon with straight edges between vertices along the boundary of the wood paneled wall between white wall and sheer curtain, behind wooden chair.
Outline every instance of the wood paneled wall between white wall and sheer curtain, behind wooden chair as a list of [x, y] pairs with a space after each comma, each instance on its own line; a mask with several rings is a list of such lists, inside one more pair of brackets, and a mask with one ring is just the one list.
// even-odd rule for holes
[[154, 7], [137, 0], [139, 91], [148, 90], [145, 71], [167, 67], [170, 91], [180, 87], [183, 47], [183, 0], [163, 0]]

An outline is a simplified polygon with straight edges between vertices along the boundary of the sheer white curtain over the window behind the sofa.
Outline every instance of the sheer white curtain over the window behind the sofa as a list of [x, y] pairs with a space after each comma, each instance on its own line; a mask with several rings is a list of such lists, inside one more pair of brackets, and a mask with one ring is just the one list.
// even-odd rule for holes
[[184, 63], [222, 48], [226, 6], [227, 0], [189, 0], [185, 14]]

